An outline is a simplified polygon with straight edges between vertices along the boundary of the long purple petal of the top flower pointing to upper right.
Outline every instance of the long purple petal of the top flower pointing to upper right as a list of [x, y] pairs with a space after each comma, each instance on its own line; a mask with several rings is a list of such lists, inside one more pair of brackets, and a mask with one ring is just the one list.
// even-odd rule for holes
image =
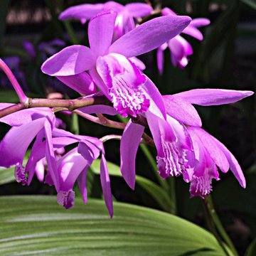
[[190, 21], [188, 16], [153, 18], [115, 41], [110, 46], [110, 53], [119, 53], [127, 58], [147, 53], [181, 33]]

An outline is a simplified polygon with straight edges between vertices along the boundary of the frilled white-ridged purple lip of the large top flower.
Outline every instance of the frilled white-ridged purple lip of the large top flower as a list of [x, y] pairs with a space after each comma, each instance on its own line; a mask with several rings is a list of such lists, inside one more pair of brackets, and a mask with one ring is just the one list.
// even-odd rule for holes
[[97, 72], [107, 85], [107, 95], [110, 96], [114, 109], [127, 117], [131, 114], [146, 112], [149, 99], [143, 93], [142, 85], [146, 81], [138, 68], [119, 54], [109, 54], [97, 58]]

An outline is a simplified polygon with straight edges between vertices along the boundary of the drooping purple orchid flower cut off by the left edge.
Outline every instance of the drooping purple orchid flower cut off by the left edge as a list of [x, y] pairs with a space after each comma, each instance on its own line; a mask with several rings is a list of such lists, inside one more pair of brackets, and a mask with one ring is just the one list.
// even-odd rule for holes
[[[4, 108], [8, 106], [10, 106], [10, 104], [1, 103], [0, 107]], [[27, 184], [26, 172], [22, 165], [24, 156], [28, 146], [35, 137], [36, 141], [33, 147], [45, 138], [46, 159], [53, 179], [57, 182], [54, 175], [56, 166], [53, 160], [54, 151], [52, 144], [52, 129], [55, 126], [55, 116], [53, 112], [46, 107], [33, 108], [33, 110], [21, 110], [9, 114], [6, 117], [2, 117], [0, 122], [9, 124], [12, 127], [0, 143], [0, 152], [3, 156], [0, 159], [0, 166], [9, 168], [15, 165], [17, 181], [21, 182], [23, 185]]]

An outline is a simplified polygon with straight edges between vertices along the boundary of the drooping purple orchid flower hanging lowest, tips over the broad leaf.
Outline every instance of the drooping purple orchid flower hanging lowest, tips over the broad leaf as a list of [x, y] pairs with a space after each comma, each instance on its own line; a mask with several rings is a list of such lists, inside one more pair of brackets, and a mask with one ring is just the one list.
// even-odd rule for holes
[[[86, 110], [84, 110], [86, 112]], [[105, 149], [100, 139], [88, 136], [74, 135], [66, 132], [63, 129], [54, 128], [52, 132], [53, 151], [63, 149], [70, 144], [79, 143], [78, 147], [72, 149], [67, 154], [57, 160], [55, 169], [55, 182], [52, 172], [46, 174], [45, 182], [48, 185], [54, 185], [57, 191], [57, 201], [61, 206], [69, 209], [72, 208], [75, 201], [75, 192], [73, 186], [75, 181], [78, 181], [82, 199], [87, 203], [87, 187], [86, 176], [87, 170], [92, 164], [92, 161], [97, 159], [101, 153], [100, 164], [100, 181], [102, 184], [103, 196], [110, 216], [113, 215], [112, 193], [110, 187], [110, 176], [107, 170], [107, 161], [105, 159]], [[26, 164], [26, 172], [28, 172], [28, 184], [31, 183], [36, 166], [40, 163], [47, 154], [46, 142], [33, 146], [31, 156]], [[56, 161], [56, 159], [55, 159]]]

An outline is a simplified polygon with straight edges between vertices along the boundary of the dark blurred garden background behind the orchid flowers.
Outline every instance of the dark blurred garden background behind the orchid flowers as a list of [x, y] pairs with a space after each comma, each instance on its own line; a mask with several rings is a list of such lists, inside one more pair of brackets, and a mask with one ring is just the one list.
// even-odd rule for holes
[[[77, 4], [105, 1], [65, 0], [1, 0], [0, 1], [0, 57], [13, 70], [18, 82], [30, 97], [74, 98], [79, 95], [54, 78], [41, 73], [41, 64], [46, 58], [65, 46], [87, 45], [87, 24], [80, 21], [58, 21], [61, 11]], [[131, 1], [118, 1], [127, 4]], [[139, 2], [139, 1], [137, 1]], [[141, 1], [144, 2], [144, 1]], [[149, 2], [149, 1], [147, 1]], [[146, 75], [159, 87], [162, 94], [173, 94], [194, 88], [223, 88], [255, 91], [256, 73], [256, 2], [254, 0], [166, 0], [151, 1], [152, 6], [162, 4], [177, 14], [192, 18], [206, 17], [210, 26], [200, 28], [204, 40], [197, 41], [183, 34], [193, 46], [186, 68], [174, 68], [170, 53], [165, 54], [163, 75], [156, 68], [156, 51], [139, 56], [146, 64]], [[11, 85], [0, 72], [0, 102], [18, 102]], [[213, 201], [220, 220], [242, 255], [256, 237], [256, 119], [255, 97], [233, 105], [196, 107], [201, 114], [203, 127], [213, 134], [238, 159], [247, 179], [244, 190], [232, 174], [220, 174], [221, 181], [213, 182]], [[92, 124], [75, 115], [58, 114], [67, 129], [80, 134], [103, 137], [106, 134], [121, 134], [120, 131]], [[1, 124], [1, 137], [8, 131]], [[119, 165], [119, 142], [107, 142], [107, 160]], [[156, 156], [154, 148], [143, 147], [137, 154], [137, 185], [129, 189], [123, 179], [114, 173], [118, 167], [111, 165], [113, 176], [112, 193], [117, 201], [174, 213], [207, 228], [203, 207], [199, 198], [189, 198], [188, 184], [182, 178], [166, 180], [171, 188], [170, 206], [154, 195], [151, 181], [161, 188], [156, 175], [156, 164], [149, 161]], [[89, 196], [101, 198], [97, 163], [92, 166], [88, 178]], [[14, 181], [11, 170], [0, 171], [0, 195], [54, 194], [49, 186], [34, 178], [30, 187]], [[79, 193], [77, 193], [79, 196]], [[86, 209], [85, 209], [86, 210]]]

